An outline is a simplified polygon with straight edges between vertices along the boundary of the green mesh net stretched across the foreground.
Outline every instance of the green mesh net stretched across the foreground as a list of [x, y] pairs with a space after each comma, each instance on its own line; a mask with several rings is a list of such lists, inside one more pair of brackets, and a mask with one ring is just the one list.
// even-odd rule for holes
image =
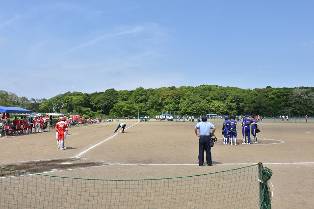
[[162, 179], [58, 177], [0, 167], [0, 208], [259, 209], [258, 164]]

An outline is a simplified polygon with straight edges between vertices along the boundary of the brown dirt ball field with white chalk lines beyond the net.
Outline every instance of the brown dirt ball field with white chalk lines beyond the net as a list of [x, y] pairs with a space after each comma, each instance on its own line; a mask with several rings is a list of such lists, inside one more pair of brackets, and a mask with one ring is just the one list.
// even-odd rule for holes
[[[213, 166], [198, 166], [196, 123], [153, 120], [126, 121], [125, 133], [116, 134], [117, 122], [71, 127], [66, 150], [57, 149], [54, 130], [2, 137], [0, 166], [55, 176], [148, 179], [205, 174], [262, 162], [273, 171], [273, 208], [314, 208], [314, 123], [260, 122], [259, 143], [237, 146], [222, 144], [222, 123], [213, 123], [218, 138], [211, 149]], [[242, 142], [242, 136], [237, 142]]]

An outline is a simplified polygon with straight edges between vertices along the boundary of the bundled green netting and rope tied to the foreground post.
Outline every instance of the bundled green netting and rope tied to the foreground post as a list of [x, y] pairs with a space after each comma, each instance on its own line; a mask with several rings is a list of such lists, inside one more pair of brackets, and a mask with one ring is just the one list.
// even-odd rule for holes
[[271, 209], [271, 192], [268, 186], [268, 181], [273, 175], [273, 172], [268, 167], [263, 167], [262, 171], [262, 202], [261, 209]]

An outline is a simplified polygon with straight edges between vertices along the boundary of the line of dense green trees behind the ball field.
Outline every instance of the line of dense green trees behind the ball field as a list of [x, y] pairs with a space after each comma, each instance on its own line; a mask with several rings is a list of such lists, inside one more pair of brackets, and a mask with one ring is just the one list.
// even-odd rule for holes
[[314, 87], [241, 89], [218, 85], [160, 87], [105, 92], [67, 92], [49, 99], [27, 99], [0, 91], [0, 106], [32, 112], [59, 112], [95, 116], [155, 116], [166, 111], [180, 115], [313, 115]]

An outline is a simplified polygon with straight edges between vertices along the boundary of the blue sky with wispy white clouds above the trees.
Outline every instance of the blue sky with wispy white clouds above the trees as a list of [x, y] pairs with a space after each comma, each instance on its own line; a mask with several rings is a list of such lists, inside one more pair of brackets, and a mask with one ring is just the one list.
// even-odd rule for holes
[[[0, 90], [313, 86], [314, 1], [0, 1]], [[4, 78], [5, 77], [5, 78]]]

